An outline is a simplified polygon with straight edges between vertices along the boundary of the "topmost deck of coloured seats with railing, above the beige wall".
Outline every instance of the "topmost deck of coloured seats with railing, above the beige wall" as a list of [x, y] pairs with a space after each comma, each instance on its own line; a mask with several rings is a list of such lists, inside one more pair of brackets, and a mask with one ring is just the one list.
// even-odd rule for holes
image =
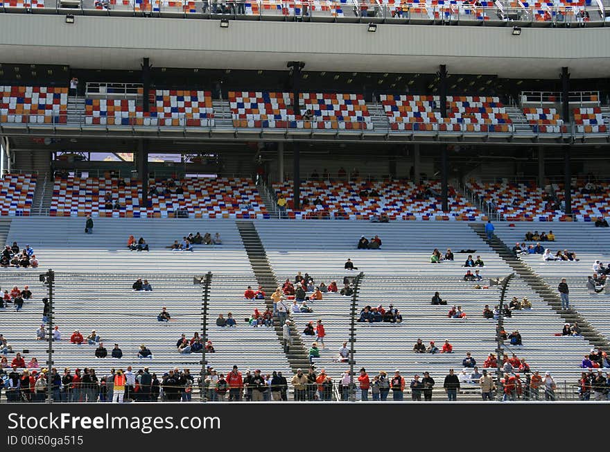
[[[12, 4], [11, 4], [12, 3]], [[493, 1], [473, 0], [458, 4], [438, 5], [432, 1], [400, 0], [0, 0], [0, 12], [36, 12], [55, 10], [58, 14], [130, 15], [141, 17], [198, 17], [233, 19], [292, 19], [320, 21], [417, 21], [427, 24], [469, 24], [479, 21], [500, 25], [498, 22], [516, 21], [536, 26], [576, 27], [610, 23], [603, 3], [572, 6], [569, 3], [538, 8], [533, 6], [502, 6]], [[522, 3], [520, 3], [521, 5]], [[503, 26], [504, 24], [502, 24]]]

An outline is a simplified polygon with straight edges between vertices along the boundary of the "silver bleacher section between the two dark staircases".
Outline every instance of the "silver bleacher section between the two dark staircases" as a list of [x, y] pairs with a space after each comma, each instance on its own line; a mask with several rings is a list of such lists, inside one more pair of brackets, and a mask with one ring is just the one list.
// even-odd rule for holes
[[[340, 285], [343, 275], [355, 277], [362, 271], [365, 277], [360, 286], [358, 307], [381, 304], [387, 308], [393, 304], [401, 311], [402, 324], [357, 324], [356, 369], [363, 366], [369, 375], [378, 370], [391, 375], [394, 369], [399, 369], [408, 379], [415, 373], [421, 376], [424, 370], [428, 370], [437, 381], [437, 391], [442, 392], [442, 379], [448, 369], [453, 367], [460, 372], [467, 351], [473, 353], [479, 370], [482, 370], [487, 354], [495, 353], [496, 323], [482, 318], [482, 308], [485, 304], [494, 308], [499, 302], [500, 291], [494, 286], [476, 289], [476, 283], [462, 281], [466, 272], [462, 265], [467, 254], [459, 251], [476, 250], [473, 254], [480, 254], [485, 261], [485, 267], [480, 268], [484, 278], [478, 283], [480, 286], [488, 286], [490, 278], [504, 277], [512, 270], [466, 224], [349, 222], [336, 227], [324, 222], [312, 226], [272, 220], [256, 223], [256, 229], [280, 281], [286, 277], [293, 280], [296, 272], [301, 271], [302, 274], [308, 272], [316, 283], [324, 281], [328, 284], [331, 278], [339, 278], [337, 282]], [[356, 250], [361, 235], [371, 237], [374, 234], [383, 241], [380, 250]], [[299, 243], [299, 246], [290, 247], [291, 243]], [[435, 247], [442, 252], [450, 247], [455, 261], [430, 264], [431, 250]], [[348, 257], [358, 270], [342, 270]], [[431, 305], [436, 290], [448, 300], [448, 306]], [[524, 344], [522, 347], [505, 345], [506, 353], [510, 356], [514, 352], [526, 358], [532, 370], [540, 370], [542, 374], [549, 371], [557, 381], [568, 381], [568, 384], [575, 381], [580, 374], [578, 365], [582, 355], [589, 351], [588, 342], [577, 337], [556, 336], [561, 332], [562, 319], [522, 279], [514, 279], [506, 296], [509, 299], [513, 296], [528, 297], [533, 304], [532, 311], [519, 311], [512, 318], [505, 319], [506, 331], [519, 329]], [[326, 311], [326, 299], [333, 306], [332, 315]], [[453, 304], [462, 305], [467, 313], [466, 320], [446, 317]], [[327, 349], [317, 360], [318, 369], [326, 367], [328, 370], [334, 364], [331, 367], [333, 372], [346, 370], [345, 364], [336, 364], [332, 360], [338, 355], [338, 348], [349, 331], [349, 306], [349, 297], [329, 295], [313, 304], [313, 313], [293, 316], [301, 331], [306, 322], [317, 320], [318, 313], [324, 316]], [[445, 339], [449, 339], [455, 353], [413, 354], [411, 350], [417, 338], [422, 338], [426, 345], [435, 340], [439, 348]]]

